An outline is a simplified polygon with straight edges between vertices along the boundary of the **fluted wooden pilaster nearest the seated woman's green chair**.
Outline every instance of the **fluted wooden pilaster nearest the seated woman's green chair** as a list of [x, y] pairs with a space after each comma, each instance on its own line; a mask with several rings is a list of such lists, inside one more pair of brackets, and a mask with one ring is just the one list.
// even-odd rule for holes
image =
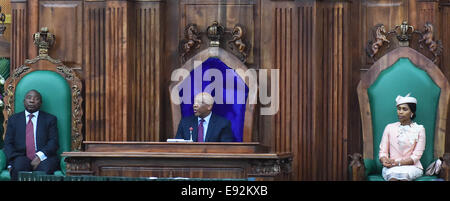
[[[323, 43], [321, 73], [316, 77], [321, 87], [317, 90], [322, 100], [316, 102], [321, 109], [316, 126], [317, 158], [321, 160], [318, 177], [321, 180], [343, 180], [347, 166], [347, 127], [348, 127], [348, 72], [349, 62], [346, 53], [348, 43], [348, 5], [328, 3], [321, 8], [323, 16]], [[320, 115], [321, 114], [321, 115]], [[332, 167], [330, 167], [330, 165]], [[326, 170], [326, 171], [325, 171]]]

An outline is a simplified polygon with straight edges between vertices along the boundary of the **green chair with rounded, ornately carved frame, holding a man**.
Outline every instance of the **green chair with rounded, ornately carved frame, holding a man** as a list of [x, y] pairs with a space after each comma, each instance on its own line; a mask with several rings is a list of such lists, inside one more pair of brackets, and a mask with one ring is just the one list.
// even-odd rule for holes
[[[57, 117], [59, 134], [58, 154], [81, 149], [81, 82], [72, 69], [50, 57], [27, 60], [14, 70], [5, 83], [5, 110], [7, 119], [24, 110], [27, 91], [36, 89], [42, 95], [41, 110]], [[6, 128], [6, 122], [4, 127]], [[0, 180], [9, 180], [6, 157], [0, 151]], [[61, 158], [60, 170], [55, 175], [65, 175], [66, 165]]]

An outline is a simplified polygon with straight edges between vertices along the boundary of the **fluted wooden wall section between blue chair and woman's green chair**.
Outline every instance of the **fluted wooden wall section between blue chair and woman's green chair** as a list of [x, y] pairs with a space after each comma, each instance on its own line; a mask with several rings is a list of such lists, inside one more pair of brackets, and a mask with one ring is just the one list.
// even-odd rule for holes
[[280, 111], [270, 124], [272, 148], [294, 153], [294, 178], [345, 180], [348, 2], [276, 2], [271, 7], [273, 43], [272, 48], [263, 45], [262, 54], [267, 51], [273, 60], [262, 62], [281, 75]]

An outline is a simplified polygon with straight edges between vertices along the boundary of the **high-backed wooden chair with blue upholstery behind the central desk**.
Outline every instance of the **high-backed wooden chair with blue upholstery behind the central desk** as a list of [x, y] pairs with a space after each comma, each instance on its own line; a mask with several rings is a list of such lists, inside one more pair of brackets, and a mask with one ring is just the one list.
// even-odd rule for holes
[[[201, 65], [200, 65], [201, 64]], [[223, 93], [224, 93], [224, 104], [217, 104], [215, 103], [213, 106], [213, 113], [219, 114], [231, 121], [232, 130], [234, 133], [235, 141], [236, 142], [251, 142], [252, 141], [252, 126], [253, 126], [253, 111], [254, 111], [254, 104], [249, 103], [249, 100], [251, 98], [254, 98], [256, 96], [256, 93], [252, 93], [252, 90], [255, 88], [250, 87], [250, 82], [253, 82], [252, 86], [257, 87], [256, 85], [256, 75], [247, 72], [247, 67], [234, 55], [231, 53], [219, 48], [219, 47], [209, 47], [197, 55], [190, 58], [180, 69], [185, 69], [185, 72], [189, 72], [189, 76], [184, 77], [184, 79], [179, 80], [176, 83], [172, 83], [169, 86], [169, 91], [171, 94], [171, 99], [176, 99], [177, 101], [181, 102], [181, 97], [183, 97], [181, 90], [182, 85], [190, 85], [192, 89], [192, 93], [190, 94], [190, 97], [188, 97], [191, 100], [191, 104], [176, 104], [174, 101], [171, 101], [171, 107], [172, 107], [172, 125], [174, 131], [178, 128], [178, 123], [180, 122], [182, 116], [189, 116], [193, 114], [192, 105], [194, 96], [198, 93], [200, 93], [202, 90], [205, 89], [205, 87], [208, 86], [208, 84], [211, 84], [211, 81], [202, 81], [199, 83], [198, 86], [200, 87], [194, 88], [194, 79], [198, 80], [198, 78], [195, 78], [195, 73], [199, 71], [199, 67], [202, 66], [202, 71], [199, 72], [201, 76], [204, 78], [207, 76], [207, 70], [215, 70], [215, 72], [220, 72], [223, 75], [223, 79], [225, 82], [230, 82], [230, 80], [226, 80], [227, 77], [225, 75], [225, 72], [227, 70], [236, 70], [234, 72], [234, 77], [231, 79], [235, 79], [237, 84], [234, 84], [234, 89], [227, 89], [226, 84], [223, 85]], [[231, 71], [230, 71], [231, 72]], [[194, 79], [190, 79], [194, 76]], [[246, 79], [246, 77], [248, 79]], [[175, 78], [178, 79], [178, 78]], [[214, 78], [217, 79], [217, 78]], [[219, 81], [219, 80], [215, 80]], [[232, 81], [232, 80], [231, 80]], [[237, 87], [240, 86], [240, 87]], [[176, 90], [176, 91], [174, 91]], [[228, 91], [227, 91], [228, 90]], [[226, 100], [225, 95], [229, 92], [235, 92], [234, 99], [236, 99], [237, 95], [236, 93], [240, 93], [242, 91], [239, 90], [245, 90], [245, 104], [225, 104]], [[215, 96], [212, 94], [213, 97]], [[184, 98], [183, 98], [184, 99]], [[242, 100], [242, 99], [241, 99]], [[235, 102], [236, 103], [236, 102]], [[174, 137], [175, 134], [172, 136]], [[170, 136], [169, 136], [170, 138]]]

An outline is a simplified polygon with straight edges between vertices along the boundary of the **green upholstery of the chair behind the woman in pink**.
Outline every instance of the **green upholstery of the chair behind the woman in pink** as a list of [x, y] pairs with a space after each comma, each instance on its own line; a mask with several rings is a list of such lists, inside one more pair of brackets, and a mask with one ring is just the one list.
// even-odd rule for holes
[[[384, 128], [387, 124], [398, 121], [395, 98], [397, 95], [405, 96], [408, 93], [417, 98], [414, 121], [425, 127], [426, 145], [420, 162], [426, 168], [435, 160], [433, 156], [434, 134], [440, 88], [425, 71], [417, 68], [408, 58], [400, 58], [391, 67], [380, 73], [367, 92], [372, 115], [373, 161], [376, 169], [374, 173], [380, 175], [382, 170], [378, 153]], [[379, 178], [370, 176], [368, 179], [377, 180]]]

